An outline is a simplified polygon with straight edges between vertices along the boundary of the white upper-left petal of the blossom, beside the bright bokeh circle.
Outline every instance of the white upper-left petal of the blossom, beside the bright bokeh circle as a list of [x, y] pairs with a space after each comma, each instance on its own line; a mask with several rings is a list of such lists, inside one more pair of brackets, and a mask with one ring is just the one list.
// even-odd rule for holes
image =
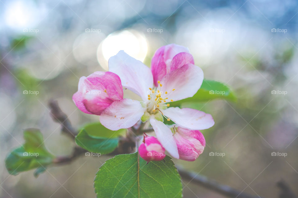
[[138, 94], [144, 101], [147, 100], [153, 77], [150, 69], [141, 61], [120, 51], [109, 59], [109, 71], [119, 75], [123, 87]]

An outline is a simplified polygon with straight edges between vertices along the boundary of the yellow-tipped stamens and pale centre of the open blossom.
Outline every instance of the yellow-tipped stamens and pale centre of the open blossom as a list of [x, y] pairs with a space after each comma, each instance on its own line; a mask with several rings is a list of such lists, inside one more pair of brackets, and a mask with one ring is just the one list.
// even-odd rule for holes
[[[157, 81], [159, 86], [162, 87], [162, 84], [160, 84], [160, 81]], [[170, 104], [165, 104], [167, 102], [173, 102], [173, 100], [166, 97], [168, 92], [162, 93], [160, 90], [158, 90], [158, 87], [156, 88], [149, 88], [148, 91], [148, 102], [147, 102], [147, 111], [150, 114], [156, 114], [157, 112], [160, 112], [162, 115], [163, 113], [161, 110], [165, 109], [166, 107], [169, 107]], [[172, 91], [175, 91], [175, 89], [172, 89]], [[165, 96], [165, 97], [164, 97]], [[164, 115], [163, 115], [164, 116]], [[164, 116], [165, 117], [165, 116]], [[167, 120], [170, 120], [167, 118]]]

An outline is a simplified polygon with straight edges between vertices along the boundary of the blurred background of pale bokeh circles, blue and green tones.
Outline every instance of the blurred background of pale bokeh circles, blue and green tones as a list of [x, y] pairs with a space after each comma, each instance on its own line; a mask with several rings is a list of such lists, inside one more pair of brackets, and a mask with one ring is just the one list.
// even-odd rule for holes
[[[41, 129], [53, 154], [69, 155], [75, 144], [52, 121], [48, 101], [58, 100], [75, 127], [97, 121], [72, 101], [79, 78], [106, 71], [119, 50], [150, 66], [170, 43], [188, 47], [205, 79], [238, 97], [185, 104], [215, 125], [202, 131], [207, 145], [196, 161], [175, 163], [254, 196], [277, 197], [280, 179], [298, 194], [297, 11], [295, 0], [0, 0], [0, 197], [95, 197], [107, 156], [80, 157], [38, 178], [33, 170], [10, 176], [4, 159], [29, 127]], [[187, 198], [224, 197], [183, 187]]]

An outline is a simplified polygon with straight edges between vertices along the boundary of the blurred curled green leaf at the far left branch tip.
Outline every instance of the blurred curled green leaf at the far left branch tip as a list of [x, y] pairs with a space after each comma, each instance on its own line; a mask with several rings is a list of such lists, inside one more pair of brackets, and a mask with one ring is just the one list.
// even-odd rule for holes
[[54, 156], [45, 148], [43, 136], [38, 129], [26, 129], [24, 139], [25, 144], [13, 150], [5, 159], [5, 166], [9, 174], [16, 175], [22, 171], [52, 163]]

